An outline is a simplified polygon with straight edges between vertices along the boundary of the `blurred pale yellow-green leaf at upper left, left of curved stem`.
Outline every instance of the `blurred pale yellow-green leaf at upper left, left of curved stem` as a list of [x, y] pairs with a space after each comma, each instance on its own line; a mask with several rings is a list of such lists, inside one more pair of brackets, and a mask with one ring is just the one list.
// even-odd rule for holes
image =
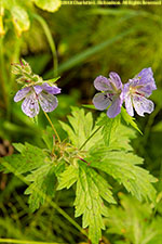
[[30, 21], [24, 8], [22, 8], [21, 5], [13, 5], [13, 8], [11, 9], [11, 14], [18, 36], [21, 36], [23, 31], [29, 29]]

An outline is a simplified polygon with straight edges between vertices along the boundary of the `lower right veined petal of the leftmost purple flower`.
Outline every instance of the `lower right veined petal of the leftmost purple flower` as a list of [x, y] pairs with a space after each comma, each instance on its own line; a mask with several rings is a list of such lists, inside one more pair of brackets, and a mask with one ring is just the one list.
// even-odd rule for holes
[[58, 100], [53, 94], [50, 94], [50, 93], [46, 94], [42, 91], [40, 94], [38, 94], [38, 97], [39, 97], [40, 105], [44, 112], [52, 112], [58, 105]]

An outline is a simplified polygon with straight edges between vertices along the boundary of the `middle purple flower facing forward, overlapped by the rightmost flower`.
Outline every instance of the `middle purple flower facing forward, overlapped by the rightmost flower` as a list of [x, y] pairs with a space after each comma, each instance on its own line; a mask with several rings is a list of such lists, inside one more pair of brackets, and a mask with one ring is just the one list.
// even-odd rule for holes
[[109, 118], [116, 117], [121, 112], [123, 103], [122, 82], [119, 75], [114, 72], [109, 74], [110, 78], [98, 76], [94, 80], [94, 86], [98, 92], [93, 98], [93, 104], [99, 111], [106, 110]]

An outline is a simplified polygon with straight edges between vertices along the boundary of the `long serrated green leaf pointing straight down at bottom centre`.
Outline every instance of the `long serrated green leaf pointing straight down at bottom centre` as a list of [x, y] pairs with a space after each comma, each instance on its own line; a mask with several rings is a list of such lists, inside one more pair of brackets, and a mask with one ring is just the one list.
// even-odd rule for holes
[[79, 178], [76, 192], [76, 217], [82, 216], [83, 228], [89, 227], [89, 237], [92, 244], [98, 244], [102, 229], [105, 229], [103, 217], [108, 216], [108, 209], [103, 198], [116, 203], [110, 187], [94, 169], [84, 163], [79, 164]]

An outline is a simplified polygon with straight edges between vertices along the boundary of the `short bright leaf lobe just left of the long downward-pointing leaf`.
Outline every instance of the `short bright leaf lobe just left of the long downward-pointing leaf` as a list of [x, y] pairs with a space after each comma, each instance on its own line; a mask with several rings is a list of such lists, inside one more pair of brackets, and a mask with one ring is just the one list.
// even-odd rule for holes
[[57, 190], [64, 188], [69, 189], [78, 179], [78, 169], [70, 165], [68, 168], [60, 175], [60, 180], [57, 187]]

